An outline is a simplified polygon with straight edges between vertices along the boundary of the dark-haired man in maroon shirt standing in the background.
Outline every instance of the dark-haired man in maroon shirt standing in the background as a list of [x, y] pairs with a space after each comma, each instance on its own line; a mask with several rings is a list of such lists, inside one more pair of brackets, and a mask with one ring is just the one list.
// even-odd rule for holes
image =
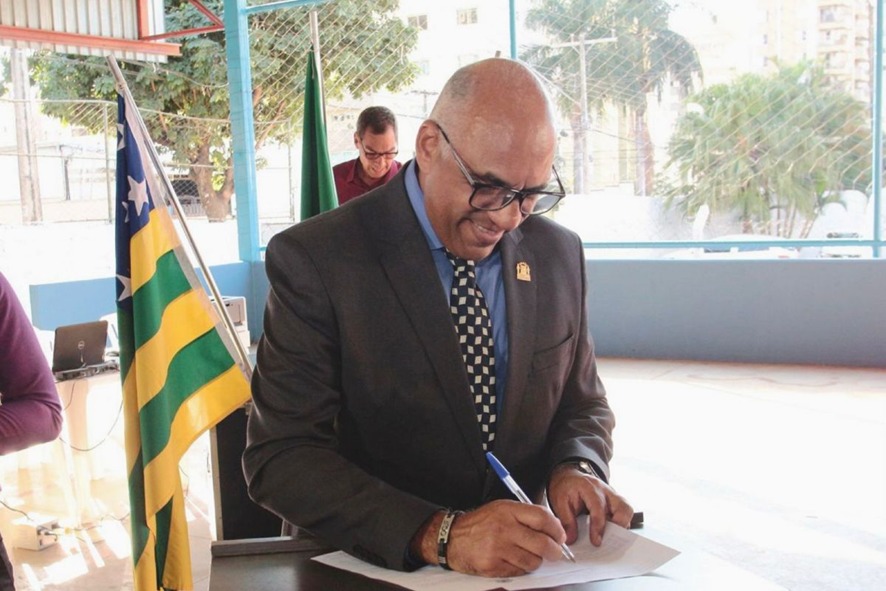
[[369, 107], [357, 118], [354, 146], [360, 155], [333, 167], [338, 204], [380, 187], [397, 174], [397, 119], [386, 107]]

